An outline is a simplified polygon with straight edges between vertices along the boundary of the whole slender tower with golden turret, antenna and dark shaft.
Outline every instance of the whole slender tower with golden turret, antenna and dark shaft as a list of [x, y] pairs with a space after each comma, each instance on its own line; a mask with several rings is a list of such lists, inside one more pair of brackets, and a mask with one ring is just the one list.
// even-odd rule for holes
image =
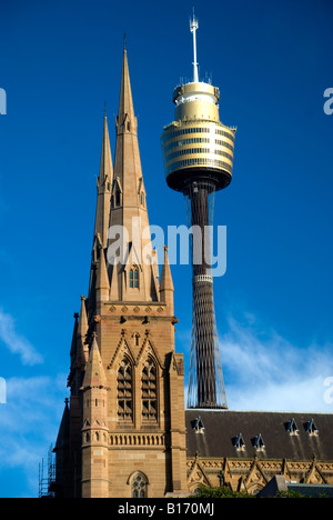
[[213, 278], [210, 259], [210, 224], [215, 191], [232, 178], [235, 129], [220, 121], [216, 87], [199, 80], [196, 62], [198, 20], [193, 34], [193, 81], [174, 89], [174, 121], [161, 138], [168, 186], [182, 192], [189, 204], [192, 239], [192, 344], [189, 408], [228, 408], [215, 324]]

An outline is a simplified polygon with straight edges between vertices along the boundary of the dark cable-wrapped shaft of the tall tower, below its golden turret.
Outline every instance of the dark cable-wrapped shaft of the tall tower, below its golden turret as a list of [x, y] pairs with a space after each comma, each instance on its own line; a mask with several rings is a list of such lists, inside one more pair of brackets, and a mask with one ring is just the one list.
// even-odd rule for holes
[[189, 406], [195, 408], [226, 408], [215, 326], [213, 279], [211, 276], [210, 221], [212, 181], [189, 183], [186, 197], [193, 232], [192, 240], [192, 346]]

